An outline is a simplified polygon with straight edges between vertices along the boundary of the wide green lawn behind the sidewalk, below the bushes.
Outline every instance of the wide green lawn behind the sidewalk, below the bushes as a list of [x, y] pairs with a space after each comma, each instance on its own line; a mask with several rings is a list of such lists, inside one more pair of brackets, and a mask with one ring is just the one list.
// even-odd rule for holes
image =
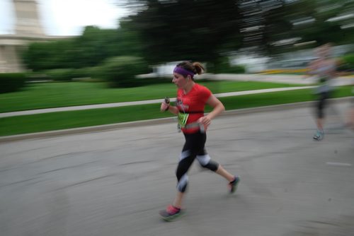
[[[297, 86], [244, 81], [200, 81], [200, 83], [210, 88], [212, 93]], [[107, 88], [105, 83], [31, 83], [22, 91], [0, 94], [0, 112], [162, 99], [165, 96], [175, 97], [176, 86], [166, 83], [137, 88]]]

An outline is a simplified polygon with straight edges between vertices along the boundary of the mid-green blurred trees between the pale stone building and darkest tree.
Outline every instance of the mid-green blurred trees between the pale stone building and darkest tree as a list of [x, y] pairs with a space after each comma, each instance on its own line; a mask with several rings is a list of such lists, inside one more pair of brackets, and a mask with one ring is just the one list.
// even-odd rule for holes
[[97, 66], [109, 57], [141, 55], [139, 36], [122, 23], [117, 30], [87, 26], [82, 35], [69, 40], [34, 42], [25, 49], [23, 61], [28, 69], [84, 68]]

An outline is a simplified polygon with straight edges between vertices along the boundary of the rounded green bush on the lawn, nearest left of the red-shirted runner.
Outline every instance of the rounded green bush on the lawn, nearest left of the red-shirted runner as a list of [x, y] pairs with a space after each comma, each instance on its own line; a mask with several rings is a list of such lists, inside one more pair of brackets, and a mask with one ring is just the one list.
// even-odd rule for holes
[[111, 57], [101, 66], [102, 78], [108, 81], [112, 88], [134, 87], [141, 79], [137, 75], [148, 73], [149, 66], [140, 57]]

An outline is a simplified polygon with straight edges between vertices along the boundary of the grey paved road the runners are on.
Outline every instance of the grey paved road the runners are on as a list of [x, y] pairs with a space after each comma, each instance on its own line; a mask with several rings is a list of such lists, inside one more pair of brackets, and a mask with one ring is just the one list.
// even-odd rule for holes
[[324, 141], [309, 108], [215, 119], [207, 149], [241, 175], [227, 182], [197, 163], [184, 218], [158, 211], [175, 193], [183, 137], [174, 124], [0, 144], [0, 232], [6, 236], [351, 235], [354, 134], [336, 105]]

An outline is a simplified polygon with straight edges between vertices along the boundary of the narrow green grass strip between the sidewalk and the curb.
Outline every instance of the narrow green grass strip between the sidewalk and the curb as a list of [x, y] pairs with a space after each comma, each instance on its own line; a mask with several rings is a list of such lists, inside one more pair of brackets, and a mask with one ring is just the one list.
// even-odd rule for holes
[[[333, 97], [340, 98], [351, 95], [351, 86], [343, 86], [336, 90]], [[313, 99], [311, 89], [220, 98], [227, 110], [304, 102]], [[0, 119], [0, 136], [172, 117], [172, 114], [168, 112], [160, 112], [159, 107], [160, 104], [135, 105], [5, 117]], [[206, 112], [208, 111], [210, 109], [206, 110]]]

